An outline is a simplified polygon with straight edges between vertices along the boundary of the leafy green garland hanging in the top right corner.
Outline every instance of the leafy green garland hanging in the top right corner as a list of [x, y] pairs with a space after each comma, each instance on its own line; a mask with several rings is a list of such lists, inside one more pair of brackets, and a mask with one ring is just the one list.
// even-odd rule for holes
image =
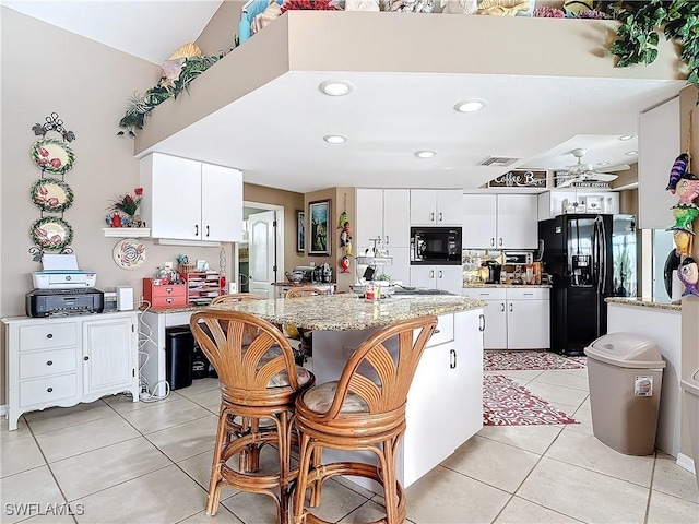
[[[696, 0], [651, 0], [614, 2], [611, 14], [621, 21], [617, 40], [609, 51], [619, 57], [618, 68], [653, 63], [657, 58], [657, 31], [682, 46], [679, 58], [689, 70], [687, 83], [699, 87], [699, 2]], [[697, 98], [699, 105], [699, 97]]]

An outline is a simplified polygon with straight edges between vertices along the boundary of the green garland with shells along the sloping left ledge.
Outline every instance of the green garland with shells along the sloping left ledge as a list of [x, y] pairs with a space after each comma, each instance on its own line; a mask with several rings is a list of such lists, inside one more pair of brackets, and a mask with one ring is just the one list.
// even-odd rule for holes
[[155, 106], [158, 106], [168, 98], [177, 99], [177, 96], [182, 91], [187, 90], [189, 92], [190, 82], [225, 57], [228, 52], [229, 51], [222, 51], [218, 55], [213, 56], [186, 58], [182, 71], [171, 86], [164, 86], [158, 82], [158, 85], [151, 87], [142, 95], [135, 93], [131, 98], [129, 98], [126, 115], [121, 120], [119, 120], [119, 127], [126, 131], [119, 131], [117, 134], [122, 135], [126, 133], [129, 134], [129, 136], [134, 138], [134, 129], [143, 129], [146, 118], [151, 115], [151, 111]]

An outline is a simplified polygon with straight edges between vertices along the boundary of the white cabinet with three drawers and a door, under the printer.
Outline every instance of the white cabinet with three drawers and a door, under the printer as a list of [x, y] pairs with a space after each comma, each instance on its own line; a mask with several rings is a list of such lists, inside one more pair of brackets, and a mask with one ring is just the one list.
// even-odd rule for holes
[[27, 412], [127, 391], [138, 402], [135, 312], [2, 322], [10, 430]]

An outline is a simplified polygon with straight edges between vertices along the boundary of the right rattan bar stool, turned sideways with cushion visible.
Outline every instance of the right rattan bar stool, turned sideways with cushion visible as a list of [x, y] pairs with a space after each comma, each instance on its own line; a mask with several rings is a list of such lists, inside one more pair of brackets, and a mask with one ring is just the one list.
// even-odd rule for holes
[[[293, 496], [294, 524], [324, 522], [305, 508], [320, 504], [322, 484], [337, 475], [368, 477], [383, 488], [388, 524], [405, 520], [405, 492], [395, 454], [405, 432], [405, 404], [415, 369], [437, 317], [395, 322], [370, 335], [347, 360], [339, 381], [316, 385], [296, 398], [299, 474]], [[417, 330], [417, 333], [416, 331]], [[417, 336], [415, 336], [417, 335]], [[322, 450], [371, 451], [378, 465], [324, 464]]]

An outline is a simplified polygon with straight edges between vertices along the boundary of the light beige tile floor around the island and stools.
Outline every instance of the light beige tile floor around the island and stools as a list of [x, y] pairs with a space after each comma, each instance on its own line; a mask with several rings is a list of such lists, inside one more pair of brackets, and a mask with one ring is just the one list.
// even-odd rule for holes
[[[699, 523], [696, 479], [672, 456], [628, 456], [594, 438], [587, 370], [506, 374], [580, 424], [483, 428], [407, 489], [410, 522]], [[202, 379], [156, 404], [119, 395], [26, 414], [16, 431], [2, 420], [0, 522], [274, 522], [269, 498], [232, 489], [204, 514], [217, 405], [216, 380]], [[366, 522], [381, 502], [331, 480], [317, 513]]]

